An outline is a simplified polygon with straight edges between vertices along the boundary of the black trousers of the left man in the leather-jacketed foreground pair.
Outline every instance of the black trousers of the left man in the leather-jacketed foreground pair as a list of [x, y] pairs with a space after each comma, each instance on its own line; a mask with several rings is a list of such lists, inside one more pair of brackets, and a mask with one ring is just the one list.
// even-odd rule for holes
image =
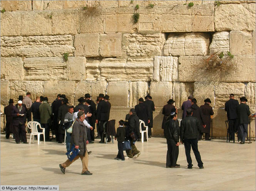
[[179, 155], [179, 146], [174, 140], [167, 141], [166, 167], [176, 166]]

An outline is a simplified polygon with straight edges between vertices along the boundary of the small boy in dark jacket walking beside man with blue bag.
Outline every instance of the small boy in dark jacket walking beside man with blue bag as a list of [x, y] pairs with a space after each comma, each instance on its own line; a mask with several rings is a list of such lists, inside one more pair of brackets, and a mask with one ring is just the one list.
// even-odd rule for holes
[[124, 128], [124, 120], [119, 121], [119, 127], [117, 128], [117, 132], [115, 135], [115, 140], [117, 139], [117, 147], [118, 154], [114, 158], [115, 160], [125, 160], [124, 159], [124, 141], [125, 141], [125, 128]]

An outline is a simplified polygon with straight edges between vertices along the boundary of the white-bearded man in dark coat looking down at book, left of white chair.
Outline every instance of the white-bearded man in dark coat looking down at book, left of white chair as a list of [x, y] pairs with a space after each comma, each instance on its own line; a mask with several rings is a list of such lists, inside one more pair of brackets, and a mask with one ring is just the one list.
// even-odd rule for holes
[[[27, 136], [26, 136], [26, 106], [22, 104], [21, 100], [18, 100], [18, 105], [13, 106], [12, 110], [12, 117], [13, 117], [13, 134], [15, 137], [15, 142], [17, 144], [20, 143], [20, 139], [23, 143], [27, 144]], [[21, 137], [20, 137], [21, 135]]]

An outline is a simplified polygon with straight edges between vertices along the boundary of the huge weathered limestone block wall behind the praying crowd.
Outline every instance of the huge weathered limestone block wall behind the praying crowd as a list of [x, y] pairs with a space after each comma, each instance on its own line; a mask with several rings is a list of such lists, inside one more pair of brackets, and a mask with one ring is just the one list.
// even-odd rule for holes
[[[255, 113], [255, 1], [214, 3], [1, 1], [1, 112], [28, 91], [50, 102], [66, 94], [71, 104], [107, 93], [118, 121], [150, 93], [153, 134], [162, 135], [163, 105], [174, 99], [181, 117], [193, 95], [199, 106], [212, 100], [213, 136], [224, 137], [230, 93], [246, 96]], [[228, 72], [207, 70], [202, 61], [222, 51], [234, 55]]]

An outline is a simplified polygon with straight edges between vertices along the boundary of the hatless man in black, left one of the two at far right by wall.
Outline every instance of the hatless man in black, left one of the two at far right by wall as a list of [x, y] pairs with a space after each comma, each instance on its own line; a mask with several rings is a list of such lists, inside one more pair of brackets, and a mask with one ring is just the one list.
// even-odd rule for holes
[[230, 94], [229, 100], [225, 103], [225, 111], [229, 120], [228, 131], [231, 134], [231, 140], [235, 138], [235, 132], [237, 132], [237, 113], [236, 108], [239, 105], [238, 100], [234, 99], [234, 94]]

